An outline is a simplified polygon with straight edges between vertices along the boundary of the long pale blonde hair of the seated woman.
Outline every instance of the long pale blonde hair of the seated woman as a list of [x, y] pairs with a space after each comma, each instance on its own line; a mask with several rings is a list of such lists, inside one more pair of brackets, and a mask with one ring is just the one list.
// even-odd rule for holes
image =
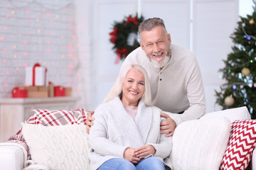
[[137, 64], [129, 64], [129, 65], [127, 65], [127, 67], [122, 69], [122, 71], [120, 72], [120, 74], [117, 77], [117, 80], [115, 81], [114, 85], [112, 86], [110, 93], [107, 94], [107, 97], [105, 98], [105, 100], [103, 102], [107, 103], [117, 96], [122, 98], [122, 84], [124, 83], [124, 79], [127, 76], [127, 73], [129, 72], [130, 69], [136, 69], [139, 72], [142, 72], [142, 74], [144, 75], [145, 91], [144, 91], [144, 94], [141, 99], [142, 99], [142, 101], [144, 101], [146, 106], [152, 106], [149, 77], [146, 73], [146, 70]]

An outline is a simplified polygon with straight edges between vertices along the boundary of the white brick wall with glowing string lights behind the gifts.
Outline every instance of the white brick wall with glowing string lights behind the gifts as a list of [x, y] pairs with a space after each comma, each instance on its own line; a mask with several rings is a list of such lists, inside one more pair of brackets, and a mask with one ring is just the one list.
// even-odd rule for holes
[[25, 67], [48, 68], [53, 84], [78, 79], [78, 38], [73, 0], [3, 0], [0, 4], [0, 97], [25, 84]]

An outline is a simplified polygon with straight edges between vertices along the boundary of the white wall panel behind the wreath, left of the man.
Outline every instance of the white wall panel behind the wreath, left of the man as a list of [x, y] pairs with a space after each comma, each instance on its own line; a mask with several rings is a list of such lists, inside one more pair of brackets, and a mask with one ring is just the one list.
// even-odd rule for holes
[[95, 0], [92, 1], [92, 108], [102, 103], [114, 84], [122, 62], [114, 64], [117, 55], [112, 50], [109, 33], [114, 21], [122, 21], [124, 16], [135, 15], [135, 0]]

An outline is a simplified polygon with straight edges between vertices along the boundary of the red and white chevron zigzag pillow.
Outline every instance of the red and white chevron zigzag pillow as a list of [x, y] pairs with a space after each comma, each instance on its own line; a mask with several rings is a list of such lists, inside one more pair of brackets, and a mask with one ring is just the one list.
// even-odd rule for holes
[[235, 120], [220, 169], [245, 169], [256, 145], [256, 120]]

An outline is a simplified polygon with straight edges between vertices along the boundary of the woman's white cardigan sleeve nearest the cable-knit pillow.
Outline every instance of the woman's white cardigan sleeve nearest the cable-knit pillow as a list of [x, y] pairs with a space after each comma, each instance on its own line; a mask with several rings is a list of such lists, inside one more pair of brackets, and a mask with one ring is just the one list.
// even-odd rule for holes
[[102, 108], [96, 109], [93, 117], [95, 120], [90, 129], [89, 142], [94, 152], [103, 156], [112, 155], [124, 158], [124, 151], [128, 146], [117, 145], [108, 139], [106, 111]]

